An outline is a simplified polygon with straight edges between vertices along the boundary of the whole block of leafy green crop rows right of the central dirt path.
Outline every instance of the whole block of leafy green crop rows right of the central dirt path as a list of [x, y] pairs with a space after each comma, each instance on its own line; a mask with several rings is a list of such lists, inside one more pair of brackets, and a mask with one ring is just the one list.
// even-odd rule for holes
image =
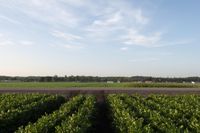
[[197, 95], [107, 97], [116, 132], [200, 132], [199, 100]]

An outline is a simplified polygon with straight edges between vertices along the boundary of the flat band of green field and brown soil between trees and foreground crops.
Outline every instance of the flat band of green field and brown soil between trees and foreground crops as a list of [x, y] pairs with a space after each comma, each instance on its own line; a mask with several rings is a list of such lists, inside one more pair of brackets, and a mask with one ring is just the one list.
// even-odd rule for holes
[[0, 83], [0, 93], [49, 94], [193, 94], [200, 84], [190, 83], [80, 83], [80, 82], [11, 82]]

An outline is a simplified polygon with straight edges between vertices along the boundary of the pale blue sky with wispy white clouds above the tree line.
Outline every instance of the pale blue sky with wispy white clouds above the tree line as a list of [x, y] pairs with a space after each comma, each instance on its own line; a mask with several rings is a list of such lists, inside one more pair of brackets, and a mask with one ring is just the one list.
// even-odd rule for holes
[[0, 75], [200, 76], [199, 0], [0, 0]]

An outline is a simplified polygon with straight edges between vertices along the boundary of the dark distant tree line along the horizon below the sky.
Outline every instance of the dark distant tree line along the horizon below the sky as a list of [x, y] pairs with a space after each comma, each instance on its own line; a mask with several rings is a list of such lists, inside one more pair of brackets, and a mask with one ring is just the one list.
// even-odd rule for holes
[[200, 82], [200, 77], [0, 76], [0, 82]]

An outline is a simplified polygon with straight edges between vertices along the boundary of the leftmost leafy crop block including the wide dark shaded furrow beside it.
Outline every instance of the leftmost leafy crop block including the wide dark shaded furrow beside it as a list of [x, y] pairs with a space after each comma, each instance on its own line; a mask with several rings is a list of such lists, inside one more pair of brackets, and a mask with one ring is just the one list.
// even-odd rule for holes
[[[2, 107], [0, 109], [0, 132], [12, 132], [18, 126], [35, 121], [44, 113], [51, 112], [64, 102], [63, 97], [56, 95], [6, 94], [1, 97], [5, 98], [0, 103]], [[3, 103], [7, 103], [7, 105], [4, 106]]]

